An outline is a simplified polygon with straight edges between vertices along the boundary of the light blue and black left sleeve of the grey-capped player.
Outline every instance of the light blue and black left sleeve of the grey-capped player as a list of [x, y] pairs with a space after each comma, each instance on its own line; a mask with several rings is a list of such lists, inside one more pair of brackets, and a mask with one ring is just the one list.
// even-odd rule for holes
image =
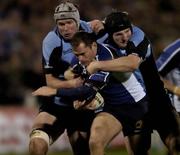
[[62, 59], [62, 40], [51, 31], [43, 40], [43, 70], [45, 74], [62, 77], [70, 63]]

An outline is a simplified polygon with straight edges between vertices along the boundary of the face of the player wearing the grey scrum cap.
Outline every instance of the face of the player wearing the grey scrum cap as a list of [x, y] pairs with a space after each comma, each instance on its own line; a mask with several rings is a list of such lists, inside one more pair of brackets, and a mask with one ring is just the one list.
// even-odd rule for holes
[[73, 19], [63, 19], [57, 21], [59, 33], [64, 39], [70, 40], [74, 34], [78, 31], [78, 26]]

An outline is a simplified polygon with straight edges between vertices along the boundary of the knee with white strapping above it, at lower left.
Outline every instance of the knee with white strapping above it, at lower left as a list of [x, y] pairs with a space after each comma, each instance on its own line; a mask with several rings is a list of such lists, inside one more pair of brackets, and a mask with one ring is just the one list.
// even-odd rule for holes
[[46, 155], [49, 147], [49, 136], [41, 130], [34, 130], [30, 134], [30, 155]]

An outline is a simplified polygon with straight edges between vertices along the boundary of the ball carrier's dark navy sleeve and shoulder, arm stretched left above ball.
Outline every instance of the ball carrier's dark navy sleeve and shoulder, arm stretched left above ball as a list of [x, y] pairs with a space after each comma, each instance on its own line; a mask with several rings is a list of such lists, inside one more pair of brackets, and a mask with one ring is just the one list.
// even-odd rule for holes
[[[113, 58], [113, 55], [107, 47], [98, 44], [98, 51], [96, 55], [96, 60], [110, 60]], [[76, 63], [74, 63], [76, 62]], [[81, 72], [79, 74], [83, 74], [86, 68], [81, 65], [79, 62], [77, 63], [77, 59], [74, 59], [73, 64], [81, 66]], [[109, 80], [109, 72], [98, 71], [94, 74], [88, 75], [85, 78], [85, 82], [83, 86], [78, 88], [70, 88], [70, 89], [58, 89], [57, 96], [61, 97], [70, 97], [72, 100], [86, 100], [93, 99], [96, 95], [97, 91], [100, 91], [102, 88], [106, 86], [106, 83]], [[80, 75], [81, 76], [81, 75]]]

